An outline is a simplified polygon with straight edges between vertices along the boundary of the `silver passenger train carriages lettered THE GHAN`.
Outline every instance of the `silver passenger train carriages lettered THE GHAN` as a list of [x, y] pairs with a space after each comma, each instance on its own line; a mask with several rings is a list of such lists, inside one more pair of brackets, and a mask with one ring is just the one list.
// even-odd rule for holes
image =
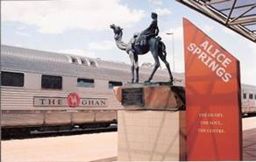
[[[152, 70], [139, 67], [140, 81]], [[184, 86], [184, 74], [173, 75], [174, 85]], [[2, 131], [117, 123], [122, 106], [112, 88], [131, 78], [131, 66], [124, 62], [1, 45]], [[168, 81], [167, 70], [158, 70], [153, 81]], [[241, 96], [243, 114], [255, 114], [256, 87], [243, 84]]]

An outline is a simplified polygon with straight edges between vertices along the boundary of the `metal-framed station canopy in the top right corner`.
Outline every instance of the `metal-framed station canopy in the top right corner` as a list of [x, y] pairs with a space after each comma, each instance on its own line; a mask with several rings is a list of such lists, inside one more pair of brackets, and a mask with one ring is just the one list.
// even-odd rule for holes
[[256, 0], [176, 0], [256, 42]]

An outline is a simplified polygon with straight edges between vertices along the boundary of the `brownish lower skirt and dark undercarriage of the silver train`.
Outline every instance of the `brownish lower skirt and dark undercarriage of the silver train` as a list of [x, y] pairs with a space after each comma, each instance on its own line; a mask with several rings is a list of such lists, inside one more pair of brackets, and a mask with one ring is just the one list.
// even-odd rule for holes
[[30, 135], [82, 133], [110, 129], [117, 123], [116, 110], [2, 110], [2, 138], [23, 138]]

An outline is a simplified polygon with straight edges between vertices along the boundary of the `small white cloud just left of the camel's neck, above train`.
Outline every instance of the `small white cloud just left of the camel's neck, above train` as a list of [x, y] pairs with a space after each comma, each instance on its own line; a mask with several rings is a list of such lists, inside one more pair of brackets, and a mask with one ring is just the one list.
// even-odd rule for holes
[[101, 42], [90, 42], [88, 46], [91, 50], [106, 51], [113, 49], [115, 47], [115, 43], [110, 40], [103, 40]]

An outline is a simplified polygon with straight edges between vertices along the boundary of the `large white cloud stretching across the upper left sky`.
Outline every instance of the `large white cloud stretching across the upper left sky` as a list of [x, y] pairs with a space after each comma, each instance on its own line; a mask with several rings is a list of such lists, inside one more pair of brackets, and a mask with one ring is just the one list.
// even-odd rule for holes
[[112, 23], [132, 27], [146, 16], [119, 0], [4, 1], [2, 21], [33, 25], [39, 32], [58, 34], [73, 29], [109, 30]]

